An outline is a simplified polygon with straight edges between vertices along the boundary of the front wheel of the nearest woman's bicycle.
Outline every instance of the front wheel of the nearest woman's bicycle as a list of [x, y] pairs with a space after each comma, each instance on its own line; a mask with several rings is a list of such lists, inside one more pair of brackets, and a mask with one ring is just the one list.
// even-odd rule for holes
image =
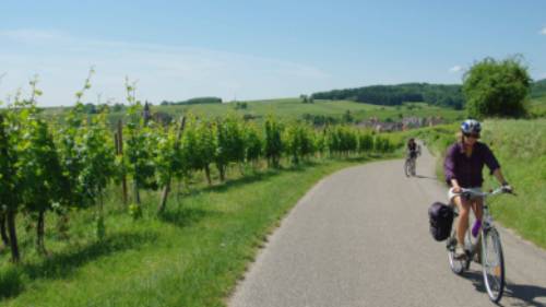
[[487, 294], [498, 303], [505, 292], [505, 258], [497, 229], [484, 229], [482, 238], [482, 268]]

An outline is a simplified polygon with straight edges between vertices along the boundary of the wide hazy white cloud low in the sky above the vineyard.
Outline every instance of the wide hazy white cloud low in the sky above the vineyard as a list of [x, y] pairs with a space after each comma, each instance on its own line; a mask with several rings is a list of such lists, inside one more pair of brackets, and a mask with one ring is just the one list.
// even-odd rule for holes
[[301, 63], [191, 47], [93, 40], [58, 31], [0, 31], [0, 73], [8, 73], [0, 97], [25, 87], [37, 73], [44, 106], [72, 104], [91, 66], [96, 74], [86, 95], [90, 101], [100, 93], [103, 99], [122, 102], [126, 75], [139, 80], [139, 99], [154, 103], [203, 95], [297, 96], [331, 81], [324, 71]]

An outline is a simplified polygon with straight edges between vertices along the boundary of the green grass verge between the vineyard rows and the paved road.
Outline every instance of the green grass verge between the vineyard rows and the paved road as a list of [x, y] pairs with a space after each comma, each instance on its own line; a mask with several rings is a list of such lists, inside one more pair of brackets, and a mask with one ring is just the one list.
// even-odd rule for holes
[[297, 200], [320, 178], [363, 162], [266, 170], [181, 194], [175, 188], [161, 219], [157, 193], [144, 193], [144, 217], [132, 221], [112, 190], [103, 243], [95, 239], [91, 210], [71, 215], [70, 241], [57, 237], [49, 214], [49, 257], [34, 253], [34, 234], [23, 231], [23, 262], [13, 265], [1, 252], [0, 304], [224, 306], [258, 247]]

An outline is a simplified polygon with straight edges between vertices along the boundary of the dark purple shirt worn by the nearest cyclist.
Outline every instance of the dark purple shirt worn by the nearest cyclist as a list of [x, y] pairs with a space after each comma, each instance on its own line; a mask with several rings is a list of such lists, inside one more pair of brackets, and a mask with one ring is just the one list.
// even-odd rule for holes
[[500, 168], [499, 162], [486, 144], [476, 142], [472, 155], [467, 157], [463, 143], [456, 142], [448, 149], [443, 162], [446, 181], [451, 186], [451, 179], [456, 179], [462, 188], [482, 187], [484, 164], [491, 174]]

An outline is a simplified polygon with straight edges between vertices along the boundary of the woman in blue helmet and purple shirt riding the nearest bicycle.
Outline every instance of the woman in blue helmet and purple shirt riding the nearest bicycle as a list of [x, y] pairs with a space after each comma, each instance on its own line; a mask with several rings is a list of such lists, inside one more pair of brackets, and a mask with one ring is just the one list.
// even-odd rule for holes
[[[467, 119], [461, 125], [461, 137], [459, 141], [452, 144], [446, 154], [443, 170], [446, 174], [446, 181], [451, 186], [448, 196], [451, 203], [454, 203], [459, 209], [459, 222], [456, 225], [456, 239], [455, 258], [464, 257], [464, 234], [468, 228], [470, 210], [474, 211], [476, 216], [476, 224], [473, 227], [473, 234], [482, 224], [483, 214], [483, 199], [463, 199], [459, 194], [461, 188], [473, 189], [476, 191], [482, 190], [484, 178], [482, 170], [484, 165], [487, 165], [497, 180], [509, 190], [511, 190], [507, 180], [500, 172], [500, 165], [489, 147], [478, 142], [479, 133], [482, 132], [482, 125], [474, 119]], [[475, 229], [474, 229], [475, 228]]]

